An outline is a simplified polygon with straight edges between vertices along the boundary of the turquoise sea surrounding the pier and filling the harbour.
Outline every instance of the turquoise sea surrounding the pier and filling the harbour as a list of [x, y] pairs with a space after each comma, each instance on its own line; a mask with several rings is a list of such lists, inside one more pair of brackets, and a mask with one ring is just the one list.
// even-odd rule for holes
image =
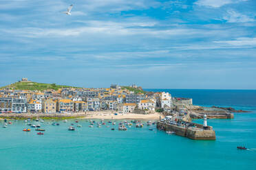
[[[145, 126], [125, 132], [110, 130], [110, 124], [89, 128], [86, 120], [79, 120], [83, 127], [74, 132], [67, 127], [75, 120], [59, 121], [59, 126], [45, 121], [40, 123], [45, 134], [39, 136], [34, 130], [23, 132], [27, 127], [23, 121], [12, 121], [7, 128], [0, 127], [0, 170], [256, 169], [256, 90], [148, 90], [192, 97], [194, 104], [202, 106], [232, 106], [252, 112], [235, 113], [231, 120], [209, 120], [216, 141], [168, 135], [155, 126], [153, 131]], [[238, 150], [238, 145], [248, 150]]]

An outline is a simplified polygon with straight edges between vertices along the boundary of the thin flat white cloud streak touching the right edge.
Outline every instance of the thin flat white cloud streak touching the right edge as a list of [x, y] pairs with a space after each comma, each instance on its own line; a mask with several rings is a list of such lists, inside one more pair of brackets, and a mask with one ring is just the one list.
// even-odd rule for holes
[[219, 40], [214, 42], [233, 46], [256, 46], [256, 38], [237, 38], [236, 40]]

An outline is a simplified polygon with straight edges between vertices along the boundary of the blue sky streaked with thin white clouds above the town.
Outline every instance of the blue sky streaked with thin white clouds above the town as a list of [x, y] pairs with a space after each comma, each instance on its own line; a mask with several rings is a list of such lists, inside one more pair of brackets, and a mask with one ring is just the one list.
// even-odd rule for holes
[[0, 23], [0, 86], [256, 89], [255, 0], [1, 0]]

